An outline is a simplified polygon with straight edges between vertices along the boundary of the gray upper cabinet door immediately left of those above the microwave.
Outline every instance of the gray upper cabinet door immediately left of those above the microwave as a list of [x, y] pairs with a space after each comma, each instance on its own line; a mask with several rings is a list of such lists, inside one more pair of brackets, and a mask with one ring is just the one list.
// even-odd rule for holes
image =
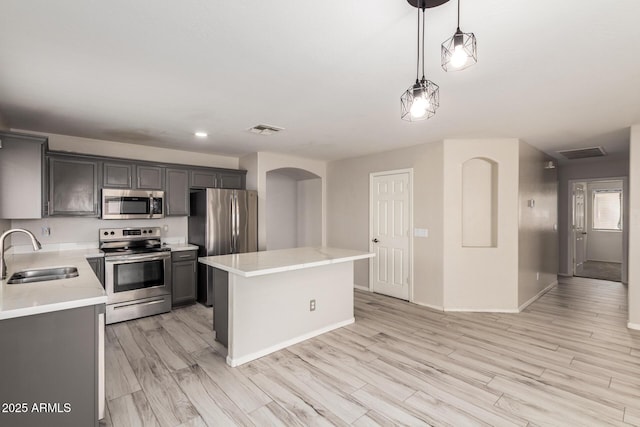
[[98, 216], [98, 162], [49, 158], [50, 216]]

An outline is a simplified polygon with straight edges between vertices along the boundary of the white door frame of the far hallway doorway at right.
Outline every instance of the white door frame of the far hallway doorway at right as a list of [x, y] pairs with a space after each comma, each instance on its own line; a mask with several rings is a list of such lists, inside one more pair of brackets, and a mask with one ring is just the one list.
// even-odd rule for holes
[[[602, 178], [580, 178], [580, 179], [570, 179], [567, 183], [568, 191], [567, 191], [567, 204], [569, 209], [567, 209], [567, 241], [565, 244], [567, 245], [567, 265], [568, 267], [566, 271], [570, 272], [573, 275], [573, 256], [574, 256], [574, 246], [573, 246], [573, 184], [578, 182], [586, 182], [589, 184], [590, 182], [597, 181], [622, 181], [622, 283], [628, 283], [628, 264], [629, 264], [629, 218], [627, 217], [627, 213], [629, 212], [629, 178], [626, 176], [607, 176]], [[586, 191], [586, 189], [585, 189]], [[586, 197], [589, 197], [587, 192]], [[587, 202], [585, 197], [585, 203]], [[586, 209], [586, 208], [585, 208]], [[586, 227], [586, 224], [585, 224]]]

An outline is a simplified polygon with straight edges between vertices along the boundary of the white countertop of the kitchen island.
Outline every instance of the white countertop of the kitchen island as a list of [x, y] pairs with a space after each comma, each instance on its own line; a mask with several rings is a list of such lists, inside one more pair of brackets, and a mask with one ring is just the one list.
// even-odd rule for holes
[[370, 252], [322, 246], [200, 257], [198, 261], [239, 276], [254, 277], [374, 256]]

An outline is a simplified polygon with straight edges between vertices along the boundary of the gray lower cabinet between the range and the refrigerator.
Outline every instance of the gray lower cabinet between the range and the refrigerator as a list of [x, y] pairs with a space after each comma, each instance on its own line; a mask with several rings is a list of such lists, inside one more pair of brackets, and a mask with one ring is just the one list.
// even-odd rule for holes
[[171, 305], [173, 307], [196, 302], [198, 251], [171, 253]]

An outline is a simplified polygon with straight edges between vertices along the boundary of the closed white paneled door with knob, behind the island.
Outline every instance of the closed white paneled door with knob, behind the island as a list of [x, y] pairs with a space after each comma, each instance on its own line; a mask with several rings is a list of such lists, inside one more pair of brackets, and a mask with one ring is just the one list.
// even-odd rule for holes
[[374, 292], [409, 300], [411, 172], [371, 174], [369, 273]]

